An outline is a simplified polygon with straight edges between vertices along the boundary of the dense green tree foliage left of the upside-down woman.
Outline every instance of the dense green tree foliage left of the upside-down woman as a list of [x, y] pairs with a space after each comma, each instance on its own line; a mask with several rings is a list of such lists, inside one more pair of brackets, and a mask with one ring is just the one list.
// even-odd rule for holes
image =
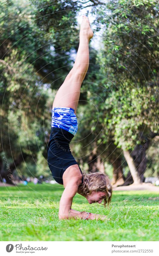
[[[33, 158], [35, 161], [38, 160], [40, 168], [40, 151], [42, 158], [45, 157], [43, 171], [46, 170], [48, 173], [46, 141], [49, 139], [51, 105], [54, 97], [50, 88], [58, 88], [64, 80], [63, 76], [70, 70], [69, 55], [74, 46], [70, 44], [66, 47], [66, 38], [69, 38], [69, 33], [74, 33], [74, 45], [77, 35], [74, 16], [76, 11], [70, 12], [68, 8], [68, 16], [64, 16], [64, 2], [63, 5], [55, 2], [50, 5], [54, 7], [52, 13], [47, 15], [49, 10], [45, 8], [46, 15], [43, 16], [42, 10], [39, 12], [39, 7], [46, 3], [36, 1], [34, 4], [31, 1], [20, 0], [10, 1], [9, 4], [7, 1], [0, 3], [0, 103], [3, 124], [0, 152], [5, 151], [9, 163], [18, 160], [20, 154], [26, 155], [26, 165], [30, 164]], [[58, 7], [61, 8], [61, 14]], [[60, 18], [59, 14], [62, 15], [62, 23], [55, 22]], [[55, 19], [52, 20], [52, 17]], [[68, 29], [69, 26], [73, 26], [73, 29]], [[66, 41], [57, 40], [61, 36], [61, 31], [64, 31], [62, 36]], [[60, 66], [63, 67], [63, 76], [59, 72]], [[38, 168], [33, 168], [37, 175], [40, 172]]]

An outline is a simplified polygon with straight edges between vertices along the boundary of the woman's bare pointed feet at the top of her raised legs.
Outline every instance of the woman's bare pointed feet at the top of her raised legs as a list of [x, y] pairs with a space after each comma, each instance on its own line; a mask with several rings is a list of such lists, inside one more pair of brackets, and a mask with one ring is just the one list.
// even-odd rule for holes
[[89, 20], [85, 15], [83, 16], [83, 20], [82, 20], [80, 32], [79, 32], [79, 38], [82, 39], [84, 37], [87, 38], [88, 40], [90, 40], [93, 37], [93, 31], [91, 30]]

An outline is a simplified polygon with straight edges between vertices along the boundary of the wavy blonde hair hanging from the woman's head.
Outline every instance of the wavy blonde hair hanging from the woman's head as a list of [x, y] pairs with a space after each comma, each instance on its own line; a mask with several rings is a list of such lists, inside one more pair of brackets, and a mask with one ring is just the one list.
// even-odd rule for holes
[[104, 207], [109, 206], [112, 198], [112, 185], [107, 174], [103, 172], [85, 173], [83, 172], [83, 183], [79, 185], [79, 192], [84, 197], [93, 191], [106, 192]]

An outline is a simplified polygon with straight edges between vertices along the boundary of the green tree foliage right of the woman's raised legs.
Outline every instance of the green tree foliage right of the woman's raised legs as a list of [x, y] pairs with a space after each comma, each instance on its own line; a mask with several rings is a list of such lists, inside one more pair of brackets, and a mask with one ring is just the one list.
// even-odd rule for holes
[[150, 131], [158, 133], [158, 5], [110, 1], [97, 7], [96, 17], [97, 30], [99, 24], [104, 30], [82, 85], [88, 104], [77, 136], [85, 138], [88, 152], [94, 141], [98, 155], [111, 163]]

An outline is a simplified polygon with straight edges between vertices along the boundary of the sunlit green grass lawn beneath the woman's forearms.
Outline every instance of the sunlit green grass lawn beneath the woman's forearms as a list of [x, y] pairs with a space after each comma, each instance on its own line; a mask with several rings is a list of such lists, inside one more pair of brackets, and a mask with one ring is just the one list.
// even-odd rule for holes
[[72, 208], [110, 220], [58, 220], [63, 186], [0, 187], [1, 241], [158, 241], [157, 192], [114, 191], [110, 209], [79, 194]]

